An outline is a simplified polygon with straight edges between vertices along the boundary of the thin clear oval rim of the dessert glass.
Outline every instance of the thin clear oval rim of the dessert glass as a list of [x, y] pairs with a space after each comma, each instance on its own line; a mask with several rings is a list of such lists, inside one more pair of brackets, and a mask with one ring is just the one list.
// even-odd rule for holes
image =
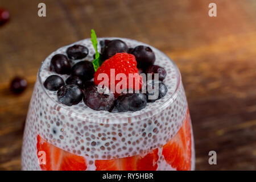
[[[102, 38], [97, 38], [97, 39], [128, 39], [128, 40], [133, 40], [133, 39], [129, 39], [129, 38], [118, 38], [118, 37], [102, 37]], [[86, 40], [86, 39], [82, 39], [82, 40]], [[79, 42], [80, 41], [81, 40], [79, 40]], [[137, 41], [137, 40], [133, 40], [133, 41]], [[72, 44], [75, 44], [75, 43], [72, 43]], [[69, 45], [72, 45], [72, 44], [69, 44]], [[143, 44], [148, 45], [146, 43], [143, 43]], [[69, 45], [66, 45], [66, 46], [69, 46]], [[148, 45], [148, 46], [150, 46], [150, 45]], [[63, 46], [63, 47], [65, 47], [65, 46]], [[158, 52], [162, 53], [163, 55], [166, 55], [164, 52], [160, 51], [158, 48], [155, 48], [155, 49]], [[51, 54], [52, 53], [50, 53], [48, 56], [50, 56]], [[63, 107], [63, 104], [61, 104], [60, 102], [57, 102], [56, 100], [53, 100], [52, 97], [50, 97], [49, 94], [47, 93], [46, 88], [43, 86], [42, 77], [40, 76], [40, 72], [42, 70], [44, 61], [46, 61], [47, 58], [44, 61], [42, 61], [42, 64], [40, 65], [40, 68], [39, 68], [37, 76], [38, 76], [39, 84], [42, 87], [44, 94], [46, 94], [46, 96], [49, 98], [49, 101], [52, 102], [52, 106], [56, 106], [56, 105], [59, 106], [59, 108], [60, 108], [59, 111], [62, 114], [68, 115], [68, 114], [70, 114], [72, 112], [70, 114], [70, 117], [72, 117], [72, 118], [76, 117], [78, 119], [81, 119], [82, 121], [88, 121], [88, 122], [108, 123], [108, 124], [109, 123], [117, 123], [117, 124], [118, 123], [130, 123], [130, 122], [141, 121], [143, 119], [150, 118], [150, 117], [154, 116], [155, 114], [160, 113], [160, 111], [166, 109], [166, 107], [168, 107], [175, 100], [175, 98], [177, 97], [177, 90], [180, 88], [180, 84], [181, 84], [181, 73], [180, 73], [179, 68], [177, 67], [177, 65], [174, 63], [174, 61], [172, 61], [172, 59], [169, 56], [167, 56], [167, 57], [168, 57], [168, 60], [170, 60], [171, 63], [174, 65], [175, 72], [176, 72], [175, 74], [177, 76], [177, 82], [176, 82], [176, 87], [175, 87], [174, 93], [172, 93], [170, 95], [170, 98], [168, 98], [168, 100], [166, 100], [165, 102], [160, 104], [158, 109], [156, 109], [156, 110], [149, 110], [149, 111], [146, 111], [144, 113], [133, 115], [133, 116], [130, 116], [130, 117], [121, 117], [121, 118], [117, 118], [117, 117], [98, 117], [98, 118], [96, 118], [96, 117], [88, 117], [88, 116], [84, 116], [84, 114], [79, 114], [79, 113], [73, 112], [71, 110], [68, 110], [65, 107]], [[51, 104], [49, 104], [49, 105], [51, 106]], [[151, 113], [151, 114], [148, 115], [148, 113]], [[118, 114], [118, 113], [115, 113], [115, 114]], [[122, 119], [122, 121], [126, 121], [126, 122], [120, 122], [121, 119]]]

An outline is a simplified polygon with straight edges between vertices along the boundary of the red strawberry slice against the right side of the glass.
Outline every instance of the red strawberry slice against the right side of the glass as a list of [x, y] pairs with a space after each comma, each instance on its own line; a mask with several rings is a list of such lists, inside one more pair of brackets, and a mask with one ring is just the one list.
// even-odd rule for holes
[[163, 146], [163, 156], [172, 168], [178, 171], [191, 169], [191, 125], [189, 113], [174, 138]]

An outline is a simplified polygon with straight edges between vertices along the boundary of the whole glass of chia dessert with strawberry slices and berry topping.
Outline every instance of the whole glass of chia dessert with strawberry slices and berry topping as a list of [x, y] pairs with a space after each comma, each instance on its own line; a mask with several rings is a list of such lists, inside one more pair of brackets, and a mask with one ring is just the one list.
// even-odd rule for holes
[[[191, 118], [175, 63], [136, 40], [97, 40], [100, 55], [85, 39], [43, 61], [24, 129], [22, 169], [195, 169]], [[96, 71], [97, 58], [102, 63]], [[116, 72], [159, 73], [159, 97], [148, 100], [141, 91], [97, 93], [95, 76], [108, 74], [112, 65]]]

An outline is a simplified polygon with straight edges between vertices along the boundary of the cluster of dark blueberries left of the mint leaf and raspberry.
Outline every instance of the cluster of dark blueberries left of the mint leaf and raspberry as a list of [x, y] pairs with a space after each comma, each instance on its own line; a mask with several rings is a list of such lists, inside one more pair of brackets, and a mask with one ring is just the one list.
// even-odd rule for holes
[[50, 70], [59, 75], [70, 75], [63, 80], [59, 75], [51, 75], [44, 81], [48, 90], [57, 91], [57, 98], [62, 104], [72, 106], [79, 104], [84, 97], [83, 92], [93, 81], [94, 68], [91, 61], [79, 61], [72, 65], [72, 60], [84, 59], [88, 55], [88, 48], [74, 45], [67, 49], [67, 56], [57, 54], [52, 57]]

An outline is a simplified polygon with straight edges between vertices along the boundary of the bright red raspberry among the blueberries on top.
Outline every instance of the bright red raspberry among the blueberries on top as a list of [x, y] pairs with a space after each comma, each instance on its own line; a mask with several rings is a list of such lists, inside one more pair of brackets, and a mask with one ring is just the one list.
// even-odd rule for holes
[[[110, 76], [110, 69], [112, 69], [112, 76]], [[101, 73], [106, 73], [108, 79], [102, 78]], [[118, 75], [119, 73], [124, 75]], [[131, 75], [129, 77], [129, 73], [133, 74], [132, 77]], [[100, 77], [98, 77], [99, 75]], [[116, 77], [117, 75], [121, 76], [121, 78]], [[130, 79], [133, 79], [133, 81]], [[126, 84], [122, 84], [123, 82]], [[105, 60], [97, 72], [94, 73], [94, 83], [96, 85], [108, 85], [113, 93], [121, 93], [120, 90], [124, 89], [140, 90], [142, 87], [142, 76], [139, 75], [135, 56], [129, 53], [117, 53], [110, 57], [110, 59]]]

